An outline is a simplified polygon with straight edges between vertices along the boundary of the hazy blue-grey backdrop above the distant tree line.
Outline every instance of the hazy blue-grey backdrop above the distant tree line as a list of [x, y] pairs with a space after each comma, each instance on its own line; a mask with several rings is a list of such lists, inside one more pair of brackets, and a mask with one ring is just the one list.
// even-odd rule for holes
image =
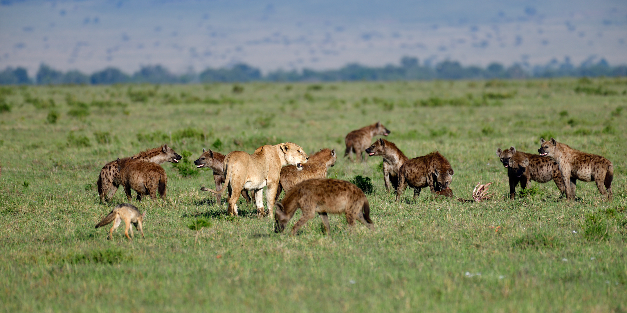
[[627, 1], [0, 0], [0, 68], [627, 63]]

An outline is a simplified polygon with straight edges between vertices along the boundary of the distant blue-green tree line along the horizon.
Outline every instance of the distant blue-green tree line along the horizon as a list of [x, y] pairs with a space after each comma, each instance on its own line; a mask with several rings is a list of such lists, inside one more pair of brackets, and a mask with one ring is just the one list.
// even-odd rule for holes
[[212, 83], [244, 81], [386, 81], [386, 80], [473, 80], [498, 78], [552, 78], [562, 76], [627, 76], [627, 66], [610, 66], [605, 59], [598, 63], [586, 61], [580, 66], [573, 66], [569, 59], [563, 63], [556, 60], [544, 66], [522, 66], [514, 64], [505, 67], [492, 63], [485, 68], [463, 66], [457, 61], [443, 61], [435, 66], [421, 65], [418, 58], [405, 56], [400, 64], [383, 67], [362, 66], [357, 63], [347, 64], [340, 69], [316, 71], [273, 71], [265, 76], [260, 69], [247, 64], [236, 64], [229, 68], [208, 68], [199, 74], [172, 74], [161, 65], [142, 66], [132, 75], [117, 68], [105, 68], [91, 75], [80, 71], [63, 73], [41, 64], [34, 79], [29, 78], [26, 69], [6, 68], [0, 72], [0, 85], [60, 85], [60, 84], [115, 84], [115, 83]]

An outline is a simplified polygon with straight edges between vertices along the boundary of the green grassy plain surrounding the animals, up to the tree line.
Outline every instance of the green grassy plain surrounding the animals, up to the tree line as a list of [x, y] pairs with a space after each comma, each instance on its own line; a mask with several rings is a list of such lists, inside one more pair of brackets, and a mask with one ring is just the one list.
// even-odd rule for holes
[[[569, 79], [11, 88], [0, 99], [8, 108], [0, 110], [1, 308], [625, 311], [627, 96], [611, 91], [627, 81], [592, 83], [609, 92], [576, 92]], [[342, 158], [344, 136], [377, 120], [409, 157], [446, 156], [456, 197], [495, 182], [493, 200], [459, 203], [426, 189], [417, 202], [408, 190], [395, 203], [381, 158]], [[509, 200], [495, 150], [534, 153], [540, 136], [611, 160], [613, 202], [582, 182], [574, 202], [560, 199], [552, 182]], [[252, 153], [282, 141], [308, 153], [340, 151], [329, 177], [372, 178], [376, 231], [358, 224], [349, 233], [334, 215], [330, 235], [317, 217], [295, 237], [277, 235], [252, 204], [240, 199], [241, 216], [228, 217], [199, 191], [214, 187], [210, 171], [182, 177], [171, 163], [163, 165], [166, 201], [133, 202], [148, 212], [145, 239], [135, 232], [129, 241], [120, 227], [107, 240], [108, 227], [94, 229], [126, 202], [118, 190], [100, 203], [95, 190], [100, 168], [117, 157], [168, 143], [195, 160], [202, 148]]]

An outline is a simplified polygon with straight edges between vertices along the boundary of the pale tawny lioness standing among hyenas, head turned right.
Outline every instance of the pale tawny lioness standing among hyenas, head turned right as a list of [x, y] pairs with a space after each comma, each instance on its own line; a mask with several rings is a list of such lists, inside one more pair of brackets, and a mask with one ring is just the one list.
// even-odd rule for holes
[[[237, 200], [242, 189], [255, 192], [255, 203], [259, 217], [265, 216], [263, 208], [263, 187], [268, 187], [266, 199], [268, 214], [272, 215], [281, 168], [285, 165], [295, 165], [302, 169], [309, 156], [303, 148], [292, 142], [279, 143], [278, 145], [260, 146], [255, 153], [248, 154], [245, 151], [231, 151], [224, 156], [224, 187], [220, 191], [209, 188], [201, 188], [207, 192], [223, 193], [228, 188], [228, 213], [238, 216]], [[225, 188], [226, 187], [226, 188]]]

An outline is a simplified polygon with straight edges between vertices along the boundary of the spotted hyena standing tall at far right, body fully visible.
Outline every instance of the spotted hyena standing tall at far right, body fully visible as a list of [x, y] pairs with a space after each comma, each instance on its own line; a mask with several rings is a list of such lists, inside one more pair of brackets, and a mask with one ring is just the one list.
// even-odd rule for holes
[[596, 182], [601, 195], [612, 200], [612, 179], [614, 166], [612, 162], [600, 155], [593, 155], [557, 142], [554, 138], [546, 141], [540, 138], [540, 155], [551, 158], [559, 165], [562, 181], [566, 186], [566, 198], [575, 199], [577, 180]]

